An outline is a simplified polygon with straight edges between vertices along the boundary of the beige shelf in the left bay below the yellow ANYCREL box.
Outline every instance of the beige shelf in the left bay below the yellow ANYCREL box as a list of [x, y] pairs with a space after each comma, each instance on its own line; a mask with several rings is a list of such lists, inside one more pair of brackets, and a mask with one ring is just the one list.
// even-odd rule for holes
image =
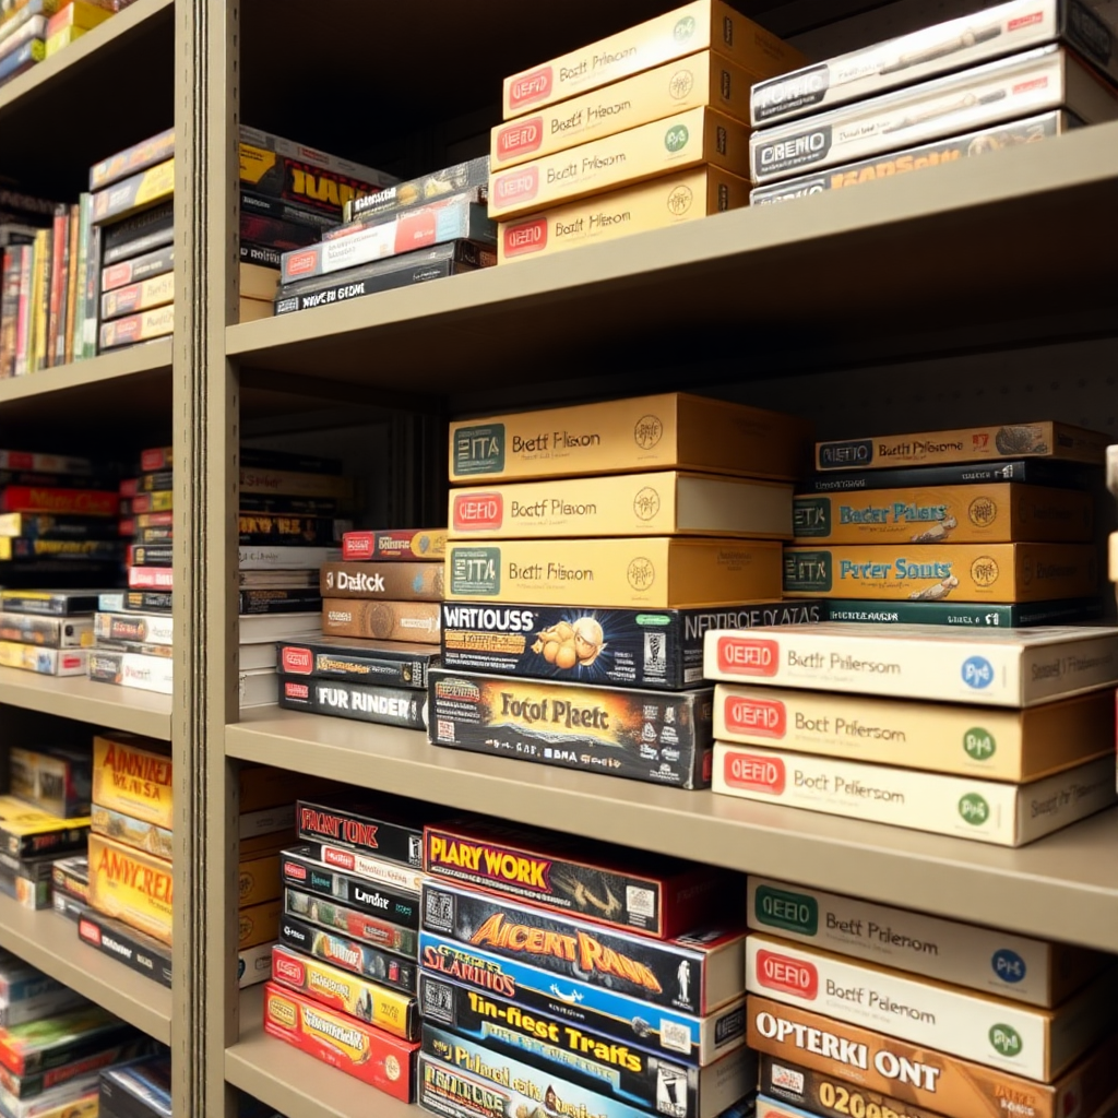
[[78, 939], [77, 925], [0, 897], [0, 947], [72, 986], [149, 1036], [171, 1043], [171, 992]]

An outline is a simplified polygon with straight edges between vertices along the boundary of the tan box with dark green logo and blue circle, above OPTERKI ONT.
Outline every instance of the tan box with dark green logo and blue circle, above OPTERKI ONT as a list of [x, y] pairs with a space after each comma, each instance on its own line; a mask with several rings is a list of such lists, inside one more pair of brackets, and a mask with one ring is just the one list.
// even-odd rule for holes
[[1029, 1005], [1060, 1005], [1110, 964], [1101, 951], [822, 889], [750, 878], [748, 890], [747, 920], [755, 931]]

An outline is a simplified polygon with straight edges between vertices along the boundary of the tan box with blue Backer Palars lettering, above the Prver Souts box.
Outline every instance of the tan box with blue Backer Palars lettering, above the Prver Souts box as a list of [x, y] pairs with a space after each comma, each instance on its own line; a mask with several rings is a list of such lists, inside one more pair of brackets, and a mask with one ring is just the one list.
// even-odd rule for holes
[[1087, 543], [1095, 501], [1080, 490], [1018, 485], [936, 485], [797, 496], [797, 542]]

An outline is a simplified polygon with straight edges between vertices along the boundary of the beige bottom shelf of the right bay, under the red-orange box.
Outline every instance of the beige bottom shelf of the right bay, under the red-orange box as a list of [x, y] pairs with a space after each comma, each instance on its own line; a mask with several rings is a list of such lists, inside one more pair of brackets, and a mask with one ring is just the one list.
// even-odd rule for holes
[[286, 1118], [415, 1118], [415, 1108], [267, 1036], [264, 987], [240, 994], [240, 1040], [225, 1052], [225, 1078]]

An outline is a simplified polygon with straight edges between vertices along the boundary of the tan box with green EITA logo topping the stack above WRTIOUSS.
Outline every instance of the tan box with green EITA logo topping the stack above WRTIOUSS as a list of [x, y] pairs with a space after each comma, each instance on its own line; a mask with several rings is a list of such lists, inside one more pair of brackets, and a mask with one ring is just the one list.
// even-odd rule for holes
[[693, 470], [796, 481], [811, 427], [794, 416], [688, 392], [451, 424], [451, 482]]

